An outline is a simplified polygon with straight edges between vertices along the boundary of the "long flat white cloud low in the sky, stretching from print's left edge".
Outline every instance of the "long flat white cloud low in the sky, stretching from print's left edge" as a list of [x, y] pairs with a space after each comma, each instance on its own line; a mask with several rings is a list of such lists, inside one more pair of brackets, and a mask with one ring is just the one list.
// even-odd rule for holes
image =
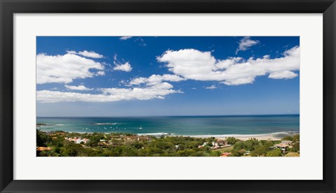
[[59, 92], [41, 90], [36, 92], [36, 100], [41, 103], [55, 103], [61, 101], [109, 102], [122, 100], [165, 99], [168, 94], [181, 93], [173, 90], [169, 83], [160, 83], [142, 88], [102, 88], [102, 94], [83, 94], [78, 92]]

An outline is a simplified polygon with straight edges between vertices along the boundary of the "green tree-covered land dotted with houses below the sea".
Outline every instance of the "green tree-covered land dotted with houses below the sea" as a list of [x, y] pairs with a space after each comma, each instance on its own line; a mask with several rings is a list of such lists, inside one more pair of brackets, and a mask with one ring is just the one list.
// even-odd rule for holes
[[[87, 143], [74, 143], [69, 138], [86, 138]], [[36, 146], [50, 147], [50, 150], [36, 150], [37, 156], [61, 157], [218, 157], [222, 152], [230, 152], [229, 156], [285, 156], [287, 152], [300, 152], [299, 135], [288, 136], [283, 140], [293, 141], [293, 148], [283, 152], [274, 148], [279, 141], [258, 141], [251, 138], [240, 141], [237, 138], [226, 138], [230, 148], [214, 150], [216, 138], [194, 138], [188, 136], [146, 136], [139, 138], [134, 134], [78, 134], [63, 131], [46, 133], [36, 129]], [[202, 145], [202, 147], [200, 147]], [[246, 153], [247, 152], [247, 153]]]

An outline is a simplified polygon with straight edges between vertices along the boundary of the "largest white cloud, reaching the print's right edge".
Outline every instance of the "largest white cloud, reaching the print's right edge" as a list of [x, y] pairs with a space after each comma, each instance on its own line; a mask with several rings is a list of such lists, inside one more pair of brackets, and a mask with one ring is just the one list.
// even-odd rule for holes
[[[270, 59], [265, 56], [244, 60], [240, 57], [215, 59], [211, 52], [195, 49], [167, 50], [157, 57], [165, 62], [168, 70], [189, 80], [213, 80], [225, 85], [253, 83], [255, 77], [295, 78], [293, 71], [300, 70], [300, 47], [295, 46], [283, 52], [283, 57]], [[290, 71], [292, 73], [288, 73]]]

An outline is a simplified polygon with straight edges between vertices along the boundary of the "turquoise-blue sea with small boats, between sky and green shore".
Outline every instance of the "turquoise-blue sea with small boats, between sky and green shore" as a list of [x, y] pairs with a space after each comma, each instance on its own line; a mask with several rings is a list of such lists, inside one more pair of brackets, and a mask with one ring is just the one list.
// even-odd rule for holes
[[300, 115], [169, 116], [169, 117], [38, 117], [43, 131], [80, 133], [230, 135], [293, 134], [300, 131]]

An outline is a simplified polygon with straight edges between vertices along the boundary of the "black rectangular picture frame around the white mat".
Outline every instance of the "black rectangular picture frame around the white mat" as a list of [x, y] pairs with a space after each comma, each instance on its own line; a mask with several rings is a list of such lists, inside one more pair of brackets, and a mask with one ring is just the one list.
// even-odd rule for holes
[[[0, 192], [336, 192], [335, 0], [0, 0], [0, 6]], [[13, 180], [14, 13], [323, 13], [323, 180]]]

